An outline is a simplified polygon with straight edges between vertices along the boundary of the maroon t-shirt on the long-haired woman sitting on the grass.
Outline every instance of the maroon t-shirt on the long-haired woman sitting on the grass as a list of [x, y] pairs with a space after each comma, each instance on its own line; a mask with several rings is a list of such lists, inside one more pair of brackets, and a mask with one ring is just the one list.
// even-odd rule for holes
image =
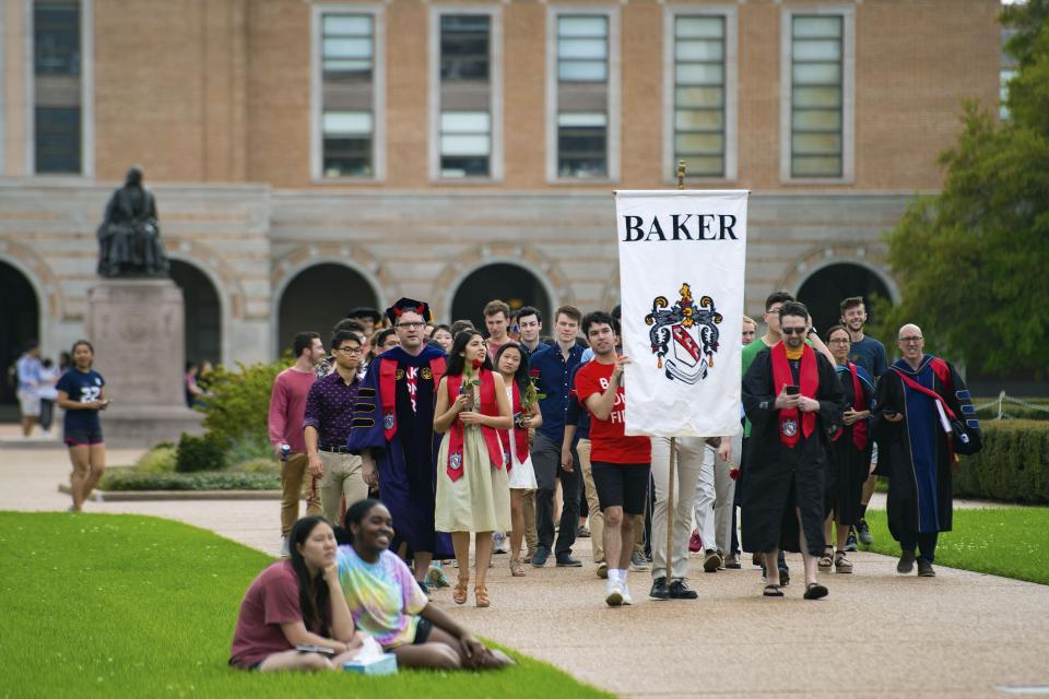
[[[303, 620], [298, 603], [298, 577], [292, 561], [279, 560], [263, 570], [244, 595], [237, 630], [233, 633], [229, 664], [251, 667], [272, 655], [292, 650], [281, 624]], [[326, 629], [309, 629], [327, 636]]]

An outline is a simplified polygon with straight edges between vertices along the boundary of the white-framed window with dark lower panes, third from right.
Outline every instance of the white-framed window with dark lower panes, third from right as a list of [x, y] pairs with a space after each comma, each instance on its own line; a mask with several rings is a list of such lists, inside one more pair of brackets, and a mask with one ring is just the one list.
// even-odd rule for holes
[[605, 12], [556, 12], [553, 59], [554, 111], [547, 165], [554, 180], [611, 179], [617, 105], [617, 15]]

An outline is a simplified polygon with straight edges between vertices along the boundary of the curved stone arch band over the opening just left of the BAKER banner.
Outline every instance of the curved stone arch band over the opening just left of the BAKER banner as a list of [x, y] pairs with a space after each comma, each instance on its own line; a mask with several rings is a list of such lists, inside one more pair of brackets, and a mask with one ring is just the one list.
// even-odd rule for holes
[[484, 245], [449, 261], [434, 281], [435, 289], [444, 289], [440, 305], [433, 309], [435, 317], [444, 320], [449, 318], [456, 295], [463, 282], [482, 268], [490, 264], [510, 264], [529, 272], [546, 293], [550, 311], [553, 312], [563, 304], [573, 301], [571, 286], [568, 279], [561, 272], [557, 263], [542, 252], [517, 245]]

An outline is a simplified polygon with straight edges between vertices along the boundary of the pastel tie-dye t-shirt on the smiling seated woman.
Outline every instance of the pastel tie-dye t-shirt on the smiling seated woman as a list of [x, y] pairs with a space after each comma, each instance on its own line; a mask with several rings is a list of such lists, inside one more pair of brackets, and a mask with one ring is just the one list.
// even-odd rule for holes
[[419, 613], [429, 602], [403, 560], [389, 550], [369, 564], [352, 546], [339, 547], [339, 582], [354, 625], [382, 648], [415, 640]]

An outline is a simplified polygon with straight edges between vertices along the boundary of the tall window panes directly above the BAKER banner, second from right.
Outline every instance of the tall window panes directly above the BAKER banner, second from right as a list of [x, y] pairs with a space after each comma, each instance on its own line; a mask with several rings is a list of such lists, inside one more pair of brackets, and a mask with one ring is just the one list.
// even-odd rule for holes
[[726, 20], [674, 19], [674, 157], [689, 176], [726, 175]]

